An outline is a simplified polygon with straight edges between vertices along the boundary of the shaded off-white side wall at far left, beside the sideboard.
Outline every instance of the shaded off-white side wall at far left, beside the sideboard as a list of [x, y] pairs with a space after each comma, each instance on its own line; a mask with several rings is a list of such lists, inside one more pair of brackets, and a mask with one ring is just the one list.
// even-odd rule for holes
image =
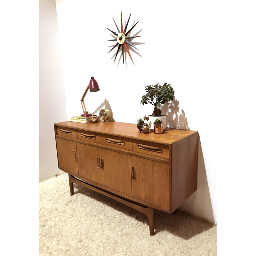
[[55, 0], [39, 0], [39, 181], [60, 172], [53, 124], [67, 120]]

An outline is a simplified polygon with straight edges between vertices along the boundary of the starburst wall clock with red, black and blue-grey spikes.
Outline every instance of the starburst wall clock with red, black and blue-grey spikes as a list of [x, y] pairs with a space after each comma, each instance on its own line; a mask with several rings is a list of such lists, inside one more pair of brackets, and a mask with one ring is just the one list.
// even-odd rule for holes
[[[132, 14], [132, 13], [131, 13]], [[131, 42], [129, 42], [128, 40], [130, 39], [133, 39], [135, 37], [140, 37], [140, 36], [129, 36], [129, 33], [132, 31], [132, 29], [138, 24], [138, 22], [132, 26], [131, 29], [129, 29], [127, 31], [127, 27], [128, 27], [128, 23], [129, 23], [129, 20], [130, 20], [130, 17], [131, 17], [131, 14], [129, 16], [129, 19], [125, 25], [125, 28], [123, 29], [123, 20], [122, 20], [122, 12], [121, 12], [121, 30], [117, 27], [116, 25], [116, 21], [114, 20], [114, 18], [112, 17], [112, 19], [114, 20], [114, 23], [116, 25], [116, 29], [118, 31], [118, 34], [112, 30], [110, 30], [109, 28], [107, 28], [110, 32], [113, 33], [114, 36], [116, 36], [116, 39], [111, 39], [111, 40], [106, 40], [106, 42], [109, 42], [109, 41], [117, 41], [117, 43], [114, 45], [114, 47], [109, 51], [111, 52], [114, 48], [116, 48], [116, 46], [118, 46], [117, 48], [117, 52], [116, 52], [116, 56], [122, 46], [122, 56], [123, 56], [123, 63], [124, 63], [124, 48], [126, 50], [126, 52], [128, 53], [128, 55], [130, 56], [131, 60], [132, 60], [132, 56], [129, 52], [129, 48], [128, 48], [128, 45], [132, 46], [133, 48], [135, 48], [136, 50], [138, 50]], [[109, 53], [108, 52], [108, 53]], [[116, 60], [116, 57], [115, 57], [115, 60]], [[115, 61], [114, 60], [114, 61]]]

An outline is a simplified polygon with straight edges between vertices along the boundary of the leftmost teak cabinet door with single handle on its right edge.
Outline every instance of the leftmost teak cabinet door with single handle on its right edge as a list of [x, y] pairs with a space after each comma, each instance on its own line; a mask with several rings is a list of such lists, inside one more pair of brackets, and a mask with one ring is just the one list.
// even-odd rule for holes
[[78, 174], [76, 142], [56, 138], [59, 168]]

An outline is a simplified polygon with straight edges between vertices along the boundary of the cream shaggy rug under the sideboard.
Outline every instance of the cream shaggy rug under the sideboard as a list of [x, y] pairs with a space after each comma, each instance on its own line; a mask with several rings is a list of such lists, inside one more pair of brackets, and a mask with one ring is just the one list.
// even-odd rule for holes
[[217, 226], [177, 211], [156, 211], [155, 235], [146, 215], [74, 183], [68, 174], [39, 183], [39, 255], [217, 255]]

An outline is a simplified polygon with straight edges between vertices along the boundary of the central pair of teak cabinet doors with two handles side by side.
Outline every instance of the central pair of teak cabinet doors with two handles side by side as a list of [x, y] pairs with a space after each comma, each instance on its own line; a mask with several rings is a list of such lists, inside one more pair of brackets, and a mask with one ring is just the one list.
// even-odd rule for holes
[[79, 176], [132, 195], [130, 156], [76, 143]]

